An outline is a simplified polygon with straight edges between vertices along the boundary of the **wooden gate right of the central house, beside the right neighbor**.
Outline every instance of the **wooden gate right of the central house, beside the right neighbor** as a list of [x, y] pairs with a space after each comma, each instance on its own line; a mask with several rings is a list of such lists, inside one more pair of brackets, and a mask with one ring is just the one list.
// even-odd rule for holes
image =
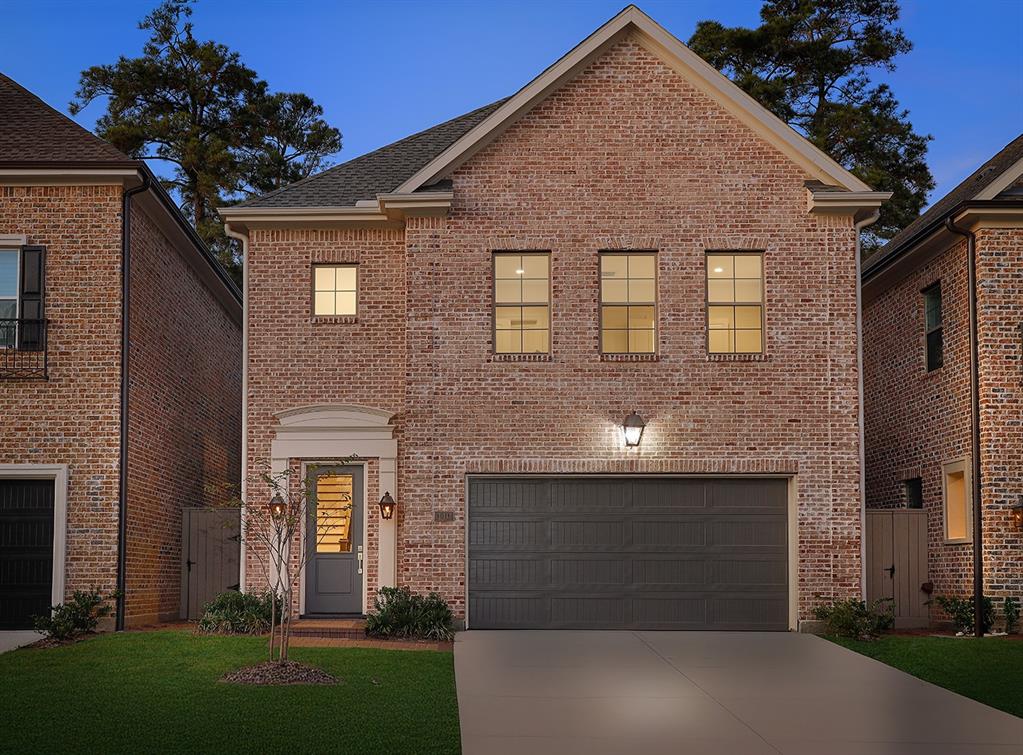
[[927, 512], [880, 508], [866, 512], [866, 599], [892, 598], [895, 628], [927, 626]]

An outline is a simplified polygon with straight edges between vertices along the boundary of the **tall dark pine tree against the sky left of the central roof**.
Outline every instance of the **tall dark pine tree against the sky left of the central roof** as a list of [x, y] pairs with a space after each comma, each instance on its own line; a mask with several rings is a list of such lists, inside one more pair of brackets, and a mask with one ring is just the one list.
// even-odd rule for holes
[[164, 0], [139, 24], [139, 57], [82, 72], [72, 114], [97, 98], [96, 132], [132, 157], [170, 164], [161, 180], [221, 263], [239, 279], [217, 208], [325, 167], [341, 132], [300, 93], [271, 93], [237, 52], [195, 39], [192, 0]]

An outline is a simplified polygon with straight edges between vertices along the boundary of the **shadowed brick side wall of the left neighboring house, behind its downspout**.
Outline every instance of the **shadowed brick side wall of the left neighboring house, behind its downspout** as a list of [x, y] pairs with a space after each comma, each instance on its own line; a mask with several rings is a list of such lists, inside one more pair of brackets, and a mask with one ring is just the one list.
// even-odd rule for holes
[[236, 486], [241, 326], [132, 203], [126, 623], [178, 616], [181, 508]]

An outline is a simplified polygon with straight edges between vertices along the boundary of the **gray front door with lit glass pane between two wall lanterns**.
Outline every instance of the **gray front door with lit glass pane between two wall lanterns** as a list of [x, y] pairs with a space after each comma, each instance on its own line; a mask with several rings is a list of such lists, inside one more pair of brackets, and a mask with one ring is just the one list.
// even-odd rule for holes
[[309, 472], [306, 614], [362, 613], [362, 468]]

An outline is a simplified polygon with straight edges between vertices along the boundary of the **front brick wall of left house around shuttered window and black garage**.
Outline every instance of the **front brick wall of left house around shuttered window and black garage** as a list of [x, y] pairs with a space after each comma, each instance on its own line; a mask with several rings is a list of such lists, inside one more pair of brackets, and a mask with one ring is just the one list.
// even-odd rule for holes
[[0, 187], [0, 233], [46, 247], [49, 380], [0, 381], [0, 463], [69, 465], [66, 590], [117, 582], [121, 187]]

